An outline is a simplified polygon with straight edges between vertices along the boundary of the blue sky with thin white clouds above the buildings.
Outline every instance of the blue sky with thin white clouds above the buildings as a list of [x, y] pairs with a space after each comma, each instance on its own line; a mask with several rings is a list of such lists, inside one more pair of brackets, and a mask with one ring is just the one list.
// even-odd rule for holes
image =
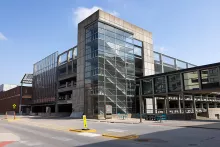
[[204, 65], [220, 62], [219, 0], [1, 0], [0, 84], [77, 45], [77, 23], [102, 9], [152, 32], [154, 50]]

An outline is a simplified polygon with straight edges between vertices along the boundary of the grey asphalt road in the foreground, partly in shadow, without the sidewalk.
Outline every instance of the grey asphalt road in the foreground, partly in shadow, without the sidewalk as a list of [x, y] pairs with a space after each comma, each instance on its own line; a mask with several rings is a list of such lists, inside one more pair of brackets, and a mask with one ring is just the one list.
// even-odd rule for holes
[[[56, 121], [56, 120], [54, 120]], [[188, 147], [219, 146], [220, 130], [150, 126], [145, 124], [90, 123], [97, 133], [73, 133], [22, 123], [0, 121], [1, 138], [9, 138], [8, 147], [73, 147], [73, 146], [147, 146], [147, 147]], [[139, 134], [139, 140], [119, 140], [101, 136], [105, 131]], [[101, 132], [101, 133], [100, 133]], [[1, 143], [0, 143], [1, 147]]]

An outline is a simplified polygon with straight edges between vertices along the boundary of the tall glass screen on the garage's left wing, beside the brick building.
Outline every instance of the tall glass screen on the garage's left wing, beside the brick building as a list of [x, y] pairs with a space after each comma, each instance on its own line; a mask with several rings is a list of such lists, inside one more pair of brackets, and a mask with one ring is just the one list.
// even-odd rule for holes
[[55, 101], [57, 56], [58, 52], [55, 52], [34, 64], [33, 103]]

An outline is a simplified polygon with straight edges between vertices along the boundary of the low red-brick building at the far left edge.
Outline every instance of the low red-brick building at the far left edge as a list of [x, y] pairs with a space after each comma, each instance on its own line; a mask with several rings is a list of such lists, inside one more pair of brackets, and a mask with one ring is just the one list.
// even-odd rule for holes
[[[21, 86], [0, 92], [0, 113], [14, 111], [12, 105], [16, 104], [15, 112], [19, 113]], [[22, 86], [22, 112], [27, 113], [30, 110], [29, 104], [32, 99], [32, 87]]]

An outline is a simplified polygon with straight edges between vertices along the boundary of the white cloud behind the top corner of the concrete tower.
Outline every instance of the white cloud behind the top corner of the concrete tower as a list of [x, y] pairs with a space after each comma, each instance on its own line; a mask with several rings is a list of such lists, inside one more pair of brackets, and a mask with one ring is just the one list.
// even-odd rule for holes
[[[92, 13], [96, 12], [98, 9], [103, 10], [101, 7], [93, 6], [92, 8], [85, 8], [85, 7], [78, 7], [74, 9], [73, 12], [73, 21], [74, 24], [77, 26], [79, 22], [84, 20], [86, 17], [90, 16]], [[119, 16], [119, 13], [116, 11], [108, 11], [108, 13]]]

